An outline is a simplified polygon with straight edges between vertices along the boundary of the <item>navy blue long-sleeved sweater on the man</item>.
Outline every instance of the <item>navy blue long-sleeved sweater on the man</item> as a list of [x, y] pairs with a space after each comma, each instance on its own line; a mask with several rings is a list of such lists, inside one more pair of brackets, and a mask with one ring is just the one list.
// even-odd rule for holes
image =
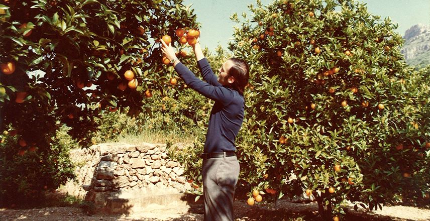
[[235, 140], [244, 118], [244, 97], [237, 90], [218, 82], [206, 58], [197, 61], [197, 65], [206, 82], [197, 78], [182, 63], [176, 64], [175, 70], [189, 87], [215, 101], [203, 152], [236, 151]]

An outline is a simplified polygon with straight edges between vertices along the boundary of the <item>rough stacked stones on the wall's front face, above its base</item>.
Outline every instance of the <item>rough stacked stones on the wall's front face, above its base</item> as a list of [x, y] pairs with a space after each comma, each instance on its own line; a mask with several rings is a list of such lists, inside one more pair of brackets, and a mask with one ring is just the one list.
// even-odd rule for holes
[[94, 191], [171, 187], [184, 192], [189, 187], [181, 176], [184, 170], [168, 159], [165, 151], [165, 146], [145, 144], [101, 156], [93, 181]]

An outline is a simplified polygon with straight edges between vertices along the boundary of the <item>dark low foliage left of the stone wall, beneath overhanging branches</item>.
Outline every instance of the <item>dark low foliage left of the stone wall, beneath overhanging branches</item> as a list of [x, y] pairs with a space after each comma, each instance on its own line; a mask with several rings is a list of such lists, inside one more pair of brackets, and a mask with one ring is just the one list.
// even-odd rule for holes
[[[73, 141], [66, 138], [63, 127], [48, 139], [51, 148], [40, 150], [31, 144], [28, 149], [11, 148], [19, 142], [15, 132], [2, 135], [0, 143], [0, 206], [35, 206], [45, 202], [45, 192], [55, 190], [74, 178], [74, 165], [68, 151]], [[76, 145], [76, 144], [75, 144]]]

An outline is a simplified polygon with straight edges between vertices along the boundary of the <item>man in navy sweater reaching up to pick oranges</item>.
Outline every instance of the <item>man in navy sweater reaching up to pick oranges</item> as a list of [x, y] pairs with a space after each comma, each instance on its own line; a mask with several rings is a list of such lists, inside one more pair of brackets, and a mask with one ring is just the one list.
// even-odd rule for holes
[[171, 44], [166, 45], [163, 40], [161, 43], [161, 50], [184, 82], [215, 101], [202, 154], [204, 220], [234, 220], [233, 197], [240, 170], [235, 140], [244, 119], [243, 91], [248, 84], [249, 67], [240, 59], [228, 59], [217, 78], [197, 41], [193, 50], [204, 82], [180, 63]]

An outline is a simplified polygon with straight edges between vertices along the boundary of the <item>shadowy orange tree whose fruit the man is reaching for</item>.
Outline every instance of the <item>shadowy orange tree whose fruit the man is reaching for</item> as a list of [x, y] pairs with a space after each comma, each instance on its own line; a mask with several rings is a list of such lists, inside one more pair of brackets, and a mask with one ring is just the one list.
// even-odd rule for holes
[[[0, 9], [2, 164], [23, 159], [21, 167], [44, 162], [24, 159], [34, 148], [37, 156], [55, 154], [52, 138], [62, 125], [85, 147], [103, 111], [149, 114], [150, 97], [164, 93], [166, 72], [173, 72], [154, 39], [167, 34], [180, 45], [175, 30], [197, 28], [181, 0], [1, 0]], [[38, 176], [8, 170], [2, 182], [9, 186], [38, 183]], [[2, 203], [13, 201], [8, 191], [15, 199], [23, 193], [2, 189]]]

